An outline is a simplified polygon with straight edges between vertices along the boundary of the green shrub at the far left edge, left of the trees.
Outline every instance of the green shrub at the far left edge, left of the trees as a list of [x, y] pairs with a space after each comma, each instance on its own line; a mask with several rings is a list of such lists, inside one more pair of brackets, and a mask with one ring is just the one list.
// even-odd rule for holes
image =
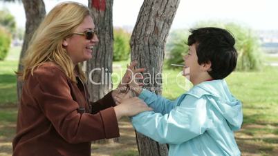
[[11, 36], [0, 26], [0, 61], [4, 60], [10, 49]]

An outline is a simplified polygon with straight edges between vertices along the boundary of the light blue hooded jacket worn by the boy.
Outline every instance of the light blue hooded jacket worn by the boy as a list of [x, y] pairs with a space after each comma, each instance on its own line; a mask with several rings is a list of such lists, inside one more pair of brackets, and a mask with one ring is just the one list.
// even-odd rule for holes
[[234, 98], [225, 80], [205, 81], [175, 101], [142, 90], [154, 111], [131, 118], [143, 135], [169, 144], [170, 156], [241, 155], [234, 139], [243, 121], [241, 102]]

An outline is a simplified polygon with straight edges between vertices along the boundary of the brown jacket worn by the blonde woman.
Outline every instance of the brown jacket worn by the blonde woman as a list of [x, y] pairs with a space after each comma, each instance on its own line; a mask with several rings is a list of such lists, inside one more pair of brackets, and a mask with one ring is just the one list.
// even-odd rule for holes
[[89, 103], [86, 86], [77, 81], [50, 63], [29, 75], [22, 90], [13, 155], [91, 155], [91, 141], [120, 136], [111, 92]]

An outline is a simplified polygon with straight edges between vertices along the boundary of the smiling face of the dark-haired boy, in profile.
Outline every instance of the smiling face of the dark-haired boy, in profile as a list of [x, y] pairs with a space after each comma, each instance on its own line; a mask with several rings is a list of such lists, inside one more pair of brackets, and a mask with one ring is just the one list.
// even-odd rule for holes
[[183, 76], [187, 77], [189, 81], [194, 81], [203, 71], [202, 66], [198, 64], [198, 57], [196, 53], [195, 43], [189, 46], [188, 54], [183, 57], [185, 67], [183, 68]]

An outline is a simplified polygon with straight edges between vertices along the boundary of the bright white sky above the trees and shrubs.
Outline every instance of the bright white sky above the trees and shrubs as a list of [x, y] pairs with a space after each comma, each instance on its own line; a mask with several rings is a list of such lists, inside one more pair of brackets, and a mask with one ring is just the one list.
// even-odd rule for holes
[[[68, 0], [44, 0], [46, 13], [62, 1]], [[88, 0], [75, 1], [88, 4]], [[113, 26], [132, 28], [142, 3], [143, 0], [114, 0]], [[253, 30], [278, 30], [277, 7], [277, 0], [180, 0], [172, 29], [192, 28], [198, 21], [213, 20], [233, 21]], [[25, 27], [22, 4], [0, 2], [0, 10], [3, 8], [10, 10], [19, 27]]]

